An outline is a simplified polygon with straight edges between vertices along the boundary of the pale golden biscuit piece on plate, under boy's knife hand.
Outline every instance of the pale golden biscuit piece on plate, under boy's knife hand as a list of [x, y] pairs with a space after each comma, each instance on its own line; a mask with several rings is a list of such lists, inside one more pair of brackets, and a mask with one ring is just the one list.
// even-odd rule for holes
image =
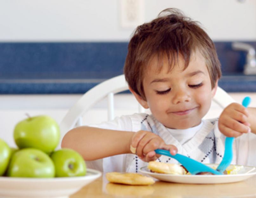
[[185, 175], [187, 171], [180, 164], [163, 163], [151, 161], [148, 163], [148, 169], [156, 173]]

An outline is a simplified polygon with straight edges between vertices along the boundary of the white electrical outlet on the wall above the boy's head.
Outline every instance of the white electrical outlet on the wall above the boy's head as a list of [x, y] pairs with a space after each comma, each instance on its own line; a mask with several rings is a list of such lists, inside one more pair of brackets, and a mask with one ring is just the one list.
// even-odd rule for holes
[[132, 28], [144, 23], [145, 2], [144, 0], [119, 0], [121, 27]]

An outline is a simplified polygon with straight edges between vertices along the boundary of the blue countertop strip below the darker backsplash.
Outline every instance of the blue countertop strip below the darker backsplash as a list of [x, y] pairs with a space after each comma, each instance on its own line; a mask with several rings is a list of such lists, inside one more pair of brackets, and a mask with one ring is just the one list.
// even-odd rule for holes
[[[0, 94], [83, 94], [104, 80], [106, 79], [0, 79]], [[256, 92], [256, 76], [222, 76], [219, 86], [229, 93]]]

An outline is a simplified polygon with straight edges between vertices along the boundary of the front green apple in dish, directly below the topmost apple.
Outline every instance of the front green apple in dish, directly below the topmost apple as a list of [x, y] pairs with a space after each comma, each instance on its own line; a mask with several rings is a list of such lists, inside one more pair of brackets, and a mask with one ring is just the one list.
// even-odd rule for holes
[[25, 148], [16, 151], [11, 157], [7, 176], [10, 177], [54, 177], [54, 163], [41, 150]]

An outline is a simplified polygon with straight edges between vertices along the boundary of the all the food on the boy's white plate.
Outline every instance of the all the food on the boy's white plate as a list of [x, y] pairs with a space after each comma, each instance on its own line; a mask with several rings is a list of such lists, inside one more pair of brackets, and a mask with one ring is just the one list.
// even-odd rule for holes
[[[212, 168], [216, 169], [217, 166]], [[173, 175], [190, 175], [190, 173], [187, 172], [187, 169], [185, 169], [180, 164], [170, 164], [170, 163], [151, 161], [148, 163], [148, 169], [155, 173], [165, 173], [165, 174], [173, 174]], [[238, 174], [238, 172], [241, 169], [243, 169], [243, 166], [230, 165], [226, 168], [226, 170], [224, 171], [224, 174], [226, 175]], [[213, 174], [209, 172], [200, 172], [196, 175], [213, 175]]]

